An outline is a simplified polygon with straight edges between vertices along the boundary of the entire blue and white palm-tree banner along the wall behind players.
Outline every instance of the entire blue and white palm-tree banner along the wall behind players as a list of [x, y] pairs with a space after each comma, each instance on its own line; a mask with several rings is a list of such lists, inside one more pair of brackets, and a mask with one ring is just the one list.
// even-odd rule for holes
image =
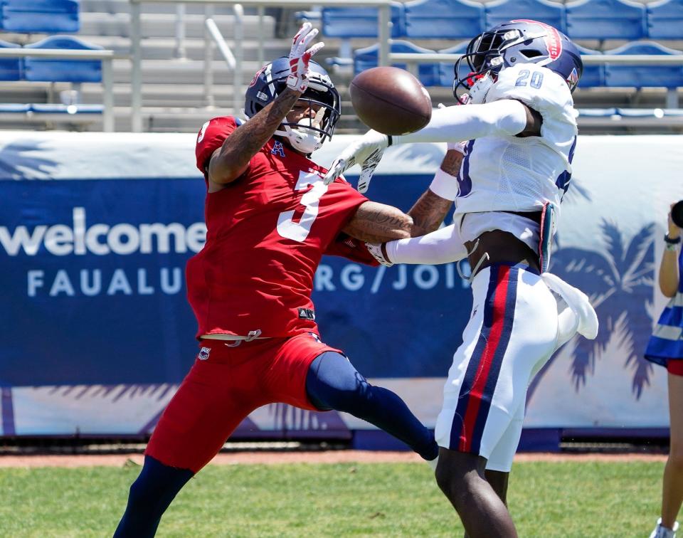
[[[656, 271], [669, 204], [683, 198], [680, 140], [579, 139], [550, 270], [589, 295], [600, 332], [572, 339], [539, 372], [525, 427], [667, 426], [666, 371], [642, 353], [666, 304]], [[335, 137], [317, 161], [329, 164], [349, 141]], [[206, 237], [193, 149], [182, 133], [0, 132], [0, 436], [152, 431], [197, 352], [184, 280]], [[444, 150], [389, 148], [371, 199], [408, 211]], [[313, 300], [324, 342], [434, 426], [470, 316], [455, 263], [370, 268], [325, 257]], [[272, 404], [240, 432], [369, 427]]]

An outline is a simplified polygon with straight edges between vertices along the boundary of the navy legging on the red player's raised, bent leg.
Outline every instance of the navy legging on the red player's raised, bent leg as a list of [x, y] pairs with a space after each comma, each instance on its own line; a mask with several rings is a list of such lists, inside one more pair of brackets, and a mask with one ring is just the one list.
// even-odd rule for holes
[[317, 408], [362, 418], [391, 433], [425, 460], [433, 460], [439, 453], [434, 436], [406, 403], [392, 391], [369, 384], [342, 354], [325, 352], [316, 357], [306, 376], [306, 391]]

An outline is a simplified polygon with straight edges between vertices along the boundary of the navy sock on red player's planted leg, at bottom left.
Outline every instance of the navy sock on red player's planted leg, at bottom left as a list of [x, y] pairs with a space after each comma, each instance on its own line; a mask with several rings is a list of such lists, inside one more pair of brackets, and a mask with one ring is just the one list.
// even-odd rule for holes
[[166, 508], [193, 475], [189, 469], [169, 467], [145, 456], [142, 471], [130, 487], [126, 512], [114, 537], [153, 537]]

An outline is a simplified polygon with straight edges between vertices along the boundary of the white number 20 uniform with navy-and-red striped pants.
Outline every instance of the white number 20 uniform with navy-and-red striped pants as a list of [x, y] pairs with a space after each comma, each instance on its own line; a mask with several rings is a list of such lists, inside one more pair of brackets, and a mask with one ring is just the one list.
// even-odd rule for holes
[[[543, 118], [540, 136], [515, 136], [526, 127], [520, 101]], [[454, 224], [387, 243], [388, 258], [393, 263], [460, 260], [467, 255], [465, 241], [493, 230], [512, 233], [539, 253], [539, 223], [516, 213], [541, 211], [548, 203], [559, 213], [576, 135], [566, 81], [534, 64], [502, 70], [482, 104], [435, 110], [425, 130], [400, 142], [470, 140], [457, 176]], [[551, 290], [571, 308], [558, 314]], [[577, 331], [594, 338], [597, 317], [586, 295], [526, 265], [489, 265], [472, 279], [472, 295], [470, 322], [444, 387], [436, 439], [450, 450], [487, 458], [491, 470], [507, 472], [531, 379]]]

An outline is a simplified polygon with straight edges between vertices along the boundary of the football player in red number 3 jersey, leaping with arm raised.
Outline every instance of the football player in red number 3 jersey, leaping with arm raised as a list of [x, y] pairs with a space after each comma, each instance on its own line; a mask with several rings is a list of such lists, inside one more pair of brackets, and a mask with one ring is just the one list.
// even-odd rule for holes
[[199, 132], [208, 232], [186, 280], [200, 350], [154, 429], [115, 536], [153, 536], [187, 480], [268, 403], [351, 413], [425, 460], [438, 455], [432, 433], [403, 400], [369, 384], [321, 341], [311, 292], [323, 254], [376, 265], [364, 242], [433, 231], [452, 201], [428, 190], [405, 214], [368, 201], [342, 178], [324, 184], [327, 170], [309, 154], [332, 137], [340, 100], [310, 60], [322, 48], [308, 48], [316, 34], [306, 23], [290, 56], [256, 74], [248, 121], [217, 117]]

